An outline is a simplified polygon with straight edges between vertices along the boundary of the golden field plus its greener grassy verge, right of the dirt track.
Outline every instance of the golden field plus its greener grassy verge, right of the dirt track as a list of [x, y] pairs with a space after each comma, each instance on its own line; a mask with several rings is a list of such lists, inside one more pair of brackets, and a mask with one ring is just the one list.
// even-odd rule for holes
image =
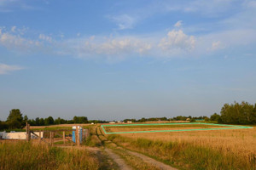
[[[134, 130], [133, 127], [114, 127], [108, 130], [124, 131], [126, 128]], [[135, 128], [148, 130], [153, 127]], [[123, 133], [108, 135], [108, 139], [182, 169], [256, 169], [255, 127], [216, 131]]]

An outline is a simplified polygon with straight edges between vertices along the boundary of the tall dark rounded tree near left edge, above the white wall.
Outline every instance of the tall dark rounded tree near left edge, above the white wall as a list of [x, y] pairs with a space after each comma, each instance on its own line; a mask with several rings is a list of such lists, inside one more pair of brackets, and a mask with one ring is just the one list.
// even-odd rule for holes
[[9, 111], [9, 116], [7, 118], [9, 128], [21, 128], [23, 126], [23, 116], [19, 109], [13, 109]]

